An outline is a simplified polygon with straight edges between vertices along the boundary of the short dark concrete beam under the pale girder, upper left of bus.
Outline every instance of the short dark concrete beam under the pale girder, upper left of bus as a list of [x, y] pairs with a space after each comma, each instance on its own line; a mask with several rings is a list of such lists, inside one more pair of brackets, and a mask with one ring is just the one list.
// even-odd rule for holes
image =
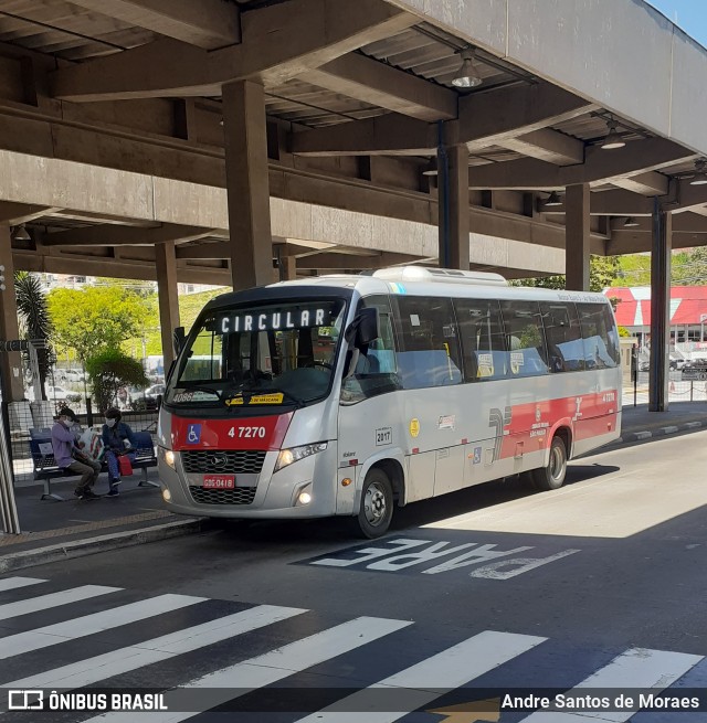
[[167, 242], [187, 242], [203, 238], [212, 233], [210, 228], [162, 224], [152, 228], [98, 224], [45, 234], [42, 244], [56, 246], [154, 246]]

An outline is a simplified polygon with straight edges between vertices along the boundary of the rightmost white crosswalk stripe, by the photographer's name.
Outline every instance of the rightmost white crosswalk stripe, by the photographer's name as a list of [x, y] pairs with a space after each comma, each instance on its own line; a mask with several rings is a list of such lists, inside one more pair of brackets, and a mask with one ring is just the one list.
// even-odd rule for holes
[[[581, 695], [584, 688], [597, 690], [614, 688], [616, 694], [631, 688], [650, 688], [652, 692], [658, 693], [672, 685], [703, 659], [703, 656], [692, 656], [685, 652], [631, 648], [614, 658], [608, 666], [592, 673], [568, 694]], [[585, 723], [587, 719], [623, 723], [635, 714], [635, 711], [583, 710], [572, 713], [537, 711], [524, 717], [523, 723]]]

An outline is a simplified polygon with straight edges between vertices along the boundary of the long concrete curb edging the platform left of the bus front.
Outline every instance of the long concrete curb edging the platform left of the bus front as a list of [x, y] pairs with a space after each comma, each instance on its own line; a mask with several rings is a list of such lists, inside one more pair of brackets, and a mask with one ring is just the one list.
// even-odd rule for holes
[[192, 534], [193, 532], [200, 532], [208, 522], [208, 518], [189, 519], [143, 528], [140, 530], [128, 530], [126, 532], [88, 538], [87, 540], [62, 542], [36, 550], [24, 550], [14, 554], [3, 555], [0, 559], [0, 574], [22, 570], [23, 567], [33, 567], [34, 565], [44, 565], [46, 563], [83, 557], [84, 555], [93, 555], [97, 552], [131, 547], [147, 542], [158, 542], [160, 540]]

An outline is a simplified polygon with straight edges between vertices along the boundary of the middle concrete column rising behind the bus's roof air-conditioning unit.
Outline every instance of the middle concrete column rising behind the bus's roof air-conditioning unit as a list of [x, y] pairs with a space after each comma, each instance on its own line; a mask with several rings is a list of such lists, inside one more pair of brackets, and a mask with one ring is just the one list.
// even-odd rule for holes
[[468, 149], [446, 146], [437, 153], [440, 189], [439, 255], [441, 268], [468, 270]]

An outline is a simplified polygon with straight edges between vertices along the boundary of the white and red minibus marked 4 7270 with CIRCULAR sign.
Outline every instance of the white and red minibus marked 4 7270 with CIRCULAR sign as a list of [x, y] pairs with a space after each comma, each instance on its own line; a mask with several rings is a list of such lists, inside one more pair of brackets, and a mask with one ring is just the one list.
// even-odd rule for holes
[[194, 323], [158, 428], [168, 508], [348, 515], [526, 474], [616, 439], [619, 334], [600, 294], [399, 267], [223, 295]]

